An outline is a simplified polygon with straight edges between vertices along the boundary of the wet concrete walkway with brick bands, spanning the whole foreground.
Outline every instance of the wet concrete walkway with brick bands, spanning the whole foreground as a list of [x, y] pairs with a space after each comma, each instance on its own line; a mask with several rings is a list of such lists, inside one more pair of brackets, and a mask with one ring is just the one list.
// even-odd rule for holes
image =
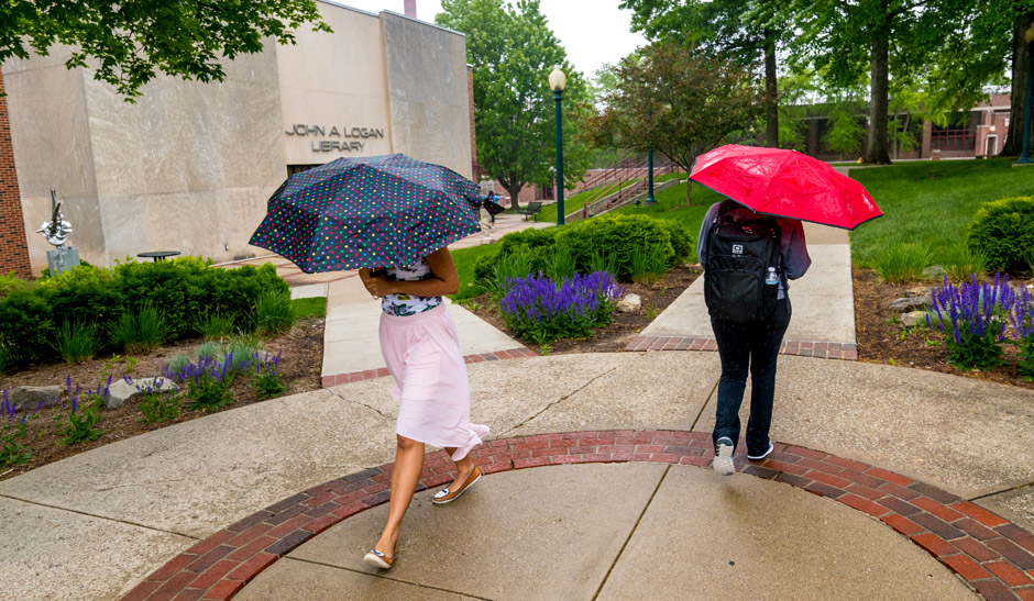
[[[816, 265], [835, 254], [822, 251]], [[352, 311], [328, 315], [328, 338], [341, 336], [328, 360], [367, 344], [378, 318], [351, 279], [296, 282], [328, 283], [331, 310]], [[800, 282], [794, 322], [806, 314]], [[658, 321], [706, 335], [686, 330], [698, 319], [690, 298]], [[816, 318], [827, 335], [812, 342], [840, 340], [831, 333], [853, 311], [849, 288], [828, 303]], [[474, 454], [490, 476], [431, 507], [451, 476], [442, 453], [429, 455], [393, 570], [360, 563], [394, 456], [389, 378], [361, 363], [367, 352], [332, 368], [363, 374], [349, 383], [0, 482], [3, 597], [1034, 599], [1030, 390], [785, 356], [777, 453], [737, 457], [739, 474], [718, 477], [707, 468], [715, 353], [525, 356], [454, 314], [472, 415], [492, 427]]]

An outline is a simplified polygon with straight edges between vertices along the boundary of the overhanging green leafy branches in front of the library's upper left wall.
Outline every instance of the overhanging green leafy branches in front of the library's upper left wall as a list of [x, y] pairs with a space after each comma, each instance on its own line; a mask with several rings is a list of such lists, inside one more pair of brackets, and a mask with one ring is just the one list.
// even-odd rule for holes
[[316, 0], [7, 0], [0, 15], [0, 62], [73, 46], [69, 69], [94, 67], [94, 78], [127, 101], [160, 70], [199, 81], [222, 81], [220, 60], [262, 51], [262, 40], [294, 43], [312, 23], [330, 32]]

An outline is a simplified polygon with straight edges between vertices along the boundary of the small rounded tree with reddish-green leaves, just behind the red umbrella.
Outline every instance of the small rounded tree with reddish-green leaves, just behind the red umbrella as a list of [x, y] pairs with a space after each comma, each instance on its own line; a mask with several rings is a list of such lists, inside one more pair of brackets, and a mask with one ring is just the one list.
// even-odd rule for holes
[[653, 148], [689, 172], [698, 154], [760, 116], [749, 69], [671, 43], [654, 43], [642, 55], [622, 63], [607, 108], [588, 121], [586, 135], [597, 145]]

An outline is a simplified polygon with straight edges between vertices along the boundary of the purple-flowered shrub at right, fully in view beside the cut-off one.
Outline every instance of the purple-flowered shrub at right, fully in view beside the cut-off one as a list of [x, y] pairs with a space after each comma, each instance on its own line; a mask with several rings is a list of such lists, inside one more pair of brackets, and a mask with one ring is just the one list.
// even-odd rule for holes
[[[988, 369], [1002, 364], [1002, 341], [1005, 338], [1007, 314], [1016, 301], [1009, 287], [1009, 276], [994, 275], [993, 282], [977, 282], [976, 276], [956, 287], [947, 276], [939, 290], [934, 290], [933, 313], [936, 327], [945, 333], [948, 363], [959, 369]], [[926, 325], [934, 327], [930, 315]]]

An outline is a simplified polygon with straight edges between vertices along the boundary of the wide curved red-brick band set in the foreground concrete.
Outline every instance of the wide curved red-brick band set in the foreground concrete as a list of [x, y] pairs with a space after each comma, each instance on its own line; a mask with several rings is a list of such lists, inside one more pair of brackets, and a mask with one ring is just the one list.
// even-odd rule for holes
[[[741, 444], [743, 448], [744, 445]], [[486, 474], [559, 464], [657, 461], [707, 466], [703, 432], [540, 434], [487, 443], [472, 454]], [[924, 482], [853, 459], [776, 444], [743, 474], [803, 488], [879, 519], [925, 548], [987, 599], [1034, 601], [1034, 535]], [[351, 474], [270, 505], [179, 554], [124, 600], [229, 599], [260, 571], [342, 520], [388, 499], [392, 464]], [[443, 452], [427, 457], [418, 490], [452, 480]]]

